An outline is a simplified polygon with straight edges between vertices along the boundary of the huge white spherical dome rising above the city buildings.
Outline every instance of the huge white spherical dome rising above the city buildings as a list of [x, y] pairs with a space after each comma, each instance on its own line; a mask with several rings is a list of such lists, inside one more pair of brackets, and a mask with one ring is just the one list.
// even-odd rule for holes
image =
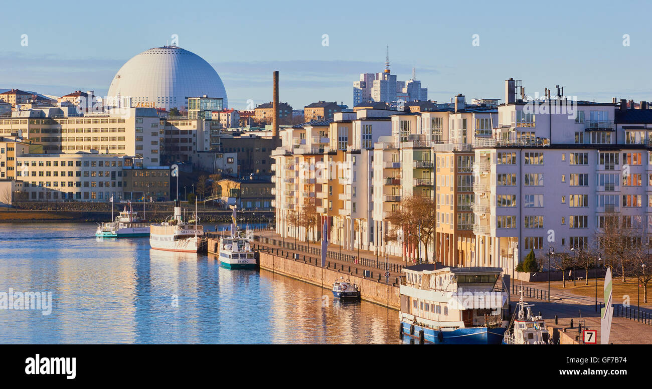
[[118, 70], [108, 96], [134, 107], [188, 108], [188, 97], [221, 97], [228, 108], [224, 83], [203, 58], [177, 46], [153, 48], [136, 55]]

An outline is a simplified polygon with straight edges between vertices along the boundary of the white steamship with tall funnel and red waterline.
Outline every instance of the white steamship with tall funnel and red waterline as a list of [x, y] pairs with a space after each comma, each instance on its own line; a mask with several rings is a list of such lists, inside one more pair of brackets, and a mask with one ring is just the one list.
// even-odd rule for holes
[[174, 214], [165, 222], [152, 224], [149, 245], [156, 250], [170, 252], [199, 252], [206, 245], [203, 226], [197, 217], [197, 211], [187, 222], [181, 216], [179, 201], [175, 201]]

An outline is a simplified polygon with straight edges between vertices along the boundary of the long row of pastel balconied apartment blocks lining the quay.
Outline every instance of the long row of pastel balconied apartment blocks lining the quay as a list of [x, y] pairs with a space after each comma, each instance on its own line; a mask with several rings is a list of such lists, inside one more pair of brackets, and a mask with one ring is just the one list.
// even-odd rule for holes
[[467, 104], [460, 94], [427, 111], [361, 106], [284, 130], [273, 152], [277, 232], [303, 240], [306, 231], [288, 225], [286, 214], [314, 201], [332, 243], [415, 259], [422, 245], [385, 237], [391, 212], [419, 195], [434, 201], [428, 253], [445, 265], [513, 274], [530, 250], [541, 260], [550, 247], [599, 250], [596, 231], [612, 216], [640, 227], [649, 241], [647, 104], [519, 100], [515, 89], [507, 80], [500, 106]]

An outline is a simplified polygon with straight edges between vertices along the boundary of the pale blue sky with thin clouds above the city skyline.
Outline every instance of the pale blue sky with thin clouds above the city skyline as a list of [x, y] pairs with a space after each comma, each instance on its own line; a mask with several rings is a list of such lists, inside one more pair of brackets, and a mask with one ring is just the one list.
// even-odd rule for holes
[[271, 100], [273, 70], [295, 109], [351, 105], [353, 81], [383, 69], [386, 45], [398, 79], [415, 66], [440, 102], [503, 98], [509, 77], [530, 96], [559, 84], [585, 100], [652, 100], [650, 10], [644, 1], [14, 1], [3, 5], [0, 88], [104, 94], [123, 63], [177, 34], [215, 67], [237, 109]]

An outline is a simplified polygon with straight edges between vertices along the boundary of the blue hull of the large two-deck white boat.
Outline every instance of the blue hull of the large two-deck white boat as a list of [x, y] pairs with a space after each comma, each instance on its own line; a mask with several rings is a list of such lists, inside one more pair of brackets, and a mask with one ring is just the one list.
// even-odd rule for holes
[[[403, 323], [403, 334], [419, 339], [419, 331], [423, 330], [424, 341], [434, 344], [449, 345], [499, 345], [503, 342], [503, 336], [507, 328], [458, 328], [452, 331], [439, 331], [432, 328], [425, 328], [415, 324]], [[410, 334], [410, 326], [414, 326], [413, 334]]]

